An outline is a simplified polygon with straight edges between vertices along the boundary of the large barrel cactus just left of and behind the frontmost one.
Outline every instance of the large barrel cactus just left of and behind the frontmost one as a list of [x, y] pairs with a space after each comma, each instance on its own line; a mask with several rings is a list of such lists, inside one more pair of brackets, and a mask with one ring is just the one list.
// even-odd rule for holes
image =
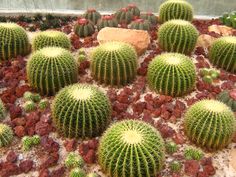
[[111, 105], [97, 88], [74, 84], [56, 95], [52, 116], [57, 130], [66, 137], [96, 137], [109, 123]]

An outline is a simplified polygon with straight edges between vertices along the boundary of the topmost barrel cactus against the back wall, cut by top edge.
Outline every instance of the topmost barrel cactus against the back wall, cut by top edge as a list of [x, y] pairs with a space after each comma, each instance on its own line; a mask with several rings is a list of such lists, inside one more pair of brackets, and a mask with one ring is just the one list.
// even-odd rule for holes
[[159, 9], [159, 21], [164, 23], [172, 19], [192, 21], [193, 7], [185, 0], [167, 0]]

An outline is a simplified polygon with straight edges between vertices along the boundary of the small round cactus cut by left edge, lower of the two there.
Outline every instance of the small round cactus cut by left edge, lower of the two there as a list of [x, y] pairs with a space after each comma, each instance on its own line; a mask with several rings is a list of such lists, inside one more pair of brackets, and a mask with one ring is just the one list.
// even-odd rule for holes
[[0, 123], [0, 148], [9, 145], [13, 139], [13, 131], [11, 127]]

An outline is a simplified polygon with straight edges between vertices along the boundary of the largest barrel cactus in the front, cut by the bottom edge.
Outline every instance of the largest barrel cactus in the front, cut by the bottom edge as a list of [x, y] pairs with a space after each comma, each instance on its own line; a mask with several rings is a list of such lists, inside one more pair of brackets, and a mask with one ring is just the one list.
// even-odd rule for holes
[[124, 120], [102, 136], [98, 162], [111, 177], [156, 176], [164, 162], [164, 142], [151, 125]]

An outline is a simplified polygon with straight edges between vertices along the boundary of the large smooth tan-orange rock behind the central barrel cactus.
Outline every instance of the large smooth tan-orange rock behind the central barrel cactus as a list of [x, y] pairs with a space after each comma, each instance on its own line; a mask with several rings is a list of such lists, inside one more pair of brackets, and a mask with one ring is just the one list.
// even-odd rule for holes
[[135, 47], [138, 55], [142, 55], [150, 43], [150, 36], [147, 31], [110, 27], [100, 30], [97, 39], [100, 44], [108, 41], [129, 43]]

